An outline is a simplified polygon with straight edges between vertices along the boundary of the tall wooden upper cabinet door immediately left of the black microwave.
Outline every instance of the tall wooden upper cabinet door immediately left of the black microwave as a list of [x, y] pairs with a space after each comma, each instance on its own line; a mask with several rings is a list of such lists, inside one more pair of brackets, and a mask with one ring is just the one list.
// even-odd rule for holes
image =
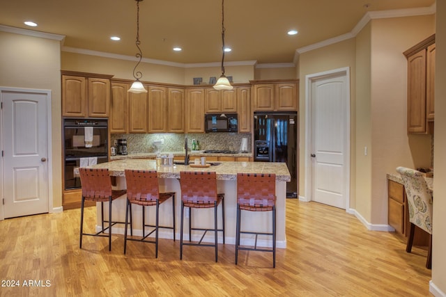
[[186, 133], [204, 132], [204, 90], [188, 89], [186, 93]]

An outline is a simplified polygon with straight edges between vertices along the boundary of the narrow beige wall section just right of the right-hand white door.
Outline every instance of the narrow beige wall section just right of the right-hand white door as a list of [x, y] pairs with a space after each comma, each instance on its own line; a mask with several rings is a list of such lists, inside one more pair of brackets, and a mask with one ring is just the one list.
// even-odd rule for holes
[[[371, 140], [371, 24], [356, 36], [355, 121], [355, 209], [371, 222], [371, 163], [374, 152]], [[367, 147], [367, 156], [364, 155]], [[353, 154], [352, 154], [353, 156]]]

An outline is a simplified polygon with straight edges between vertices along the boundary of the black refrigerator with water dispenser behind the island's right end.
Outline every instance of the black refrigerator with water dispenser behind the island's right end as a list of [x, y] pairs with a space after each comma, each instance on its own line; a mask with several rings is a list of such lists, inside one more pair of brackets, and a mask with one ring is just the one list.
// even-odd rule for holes
[[298, 113], [254, 113], [254, 161], [284, 162], [291, 182], [286, 183], [286, 197], [298, 197]]

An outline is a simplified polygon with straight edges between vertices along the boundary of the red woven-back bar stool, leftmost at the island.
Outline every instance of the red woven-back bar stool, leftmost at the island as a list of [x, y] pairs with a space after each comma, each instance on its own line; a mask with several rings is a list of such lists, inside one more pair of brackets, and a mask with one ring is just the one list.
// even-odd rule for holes
[[[125, 195], [126, 190], [112, 190], [112, 180], [110, 179], [108, 169], [79, 168], [79, 175], [82, 184], [82, 202], [81, 202], [81, 227], [79, 248], [82, 248], [82, 236], [102, 236], [109, 238], [109, 250], [112, 250], [112, 226], [123, 222], [112, 221], [112, 201]], [[95, 234], [83, 232], [84, 227], [84, 201], [100, 202], [100, 214], [102, 221], [102, 230]], [[109, 202], [109, 220], [108, 226], [104, 227], [104, 202]], [[130, 218], [131, 220], [131, 218]], [[108, 234], [105, 231], [109, 230]], [[133, 232], [130, 226], [130, 232]]]

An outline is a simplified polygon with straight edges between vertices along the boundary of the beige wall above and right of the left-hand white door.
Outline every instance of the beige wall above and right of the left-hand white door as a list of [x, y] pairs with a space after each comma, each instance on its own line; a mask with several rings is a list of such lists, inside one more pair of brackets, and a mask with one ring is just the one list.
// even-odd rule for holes
[[60, 51], [59, 41], [0, 31], [0, 86], [51, 90], [52, 207], [62, 206]]

